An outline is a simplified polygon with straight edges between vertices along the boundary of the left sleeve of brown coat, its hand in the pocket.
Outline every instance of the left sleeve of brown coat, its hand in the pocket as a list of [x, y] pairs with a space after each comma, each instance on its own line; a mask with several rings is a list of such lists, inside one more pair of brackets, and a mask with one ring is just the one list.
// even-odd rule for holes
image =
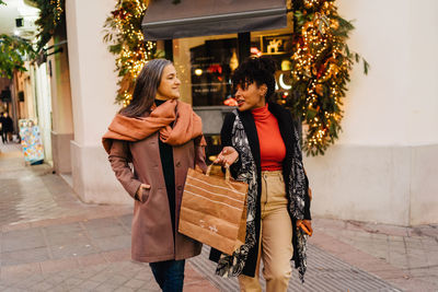
[[118, 182], [134, 199], [141, 182], [136, 178], [129, 167], [130, 151], [126, 141], [114, 140], [110, 150], [108, 161]]

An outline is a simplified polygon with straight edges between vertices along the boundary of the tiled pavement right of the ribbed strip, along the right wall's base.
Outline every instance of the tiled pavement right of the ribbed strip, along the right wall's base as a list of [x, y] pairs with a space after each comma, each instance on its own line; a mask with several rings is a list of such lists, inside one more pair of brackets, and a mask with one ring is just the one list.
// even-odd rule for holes
[[314, 219], [310, 240], [404, 291], [438, 291], [438, 225], [413, 227]]

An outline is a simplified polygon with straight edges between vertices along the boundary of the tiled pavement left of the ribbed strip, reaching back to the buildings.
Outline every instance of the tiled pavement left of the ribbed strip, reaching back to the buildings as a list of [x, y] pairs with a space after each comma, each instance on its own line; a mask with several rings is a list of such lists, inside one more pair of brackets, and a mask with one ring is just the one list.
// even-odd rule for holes
[[[130, 260], [130, 206], [82, 203], [48, 165], [0, 144], [0, 291], [159, 291]], [[186, 265], [185, 291], [218, 291]]]

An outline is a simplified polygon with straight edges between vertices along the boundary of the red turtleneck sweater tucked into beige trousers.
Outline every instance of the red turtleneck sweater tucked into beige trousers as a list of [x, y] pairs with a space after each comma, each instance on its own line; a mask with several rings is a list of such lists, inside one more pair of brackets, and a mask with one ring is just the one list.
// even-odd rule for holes
[[283, 141], [277, 118], [264, 107], [252, 109], [255, 127], [257, 128], [261, 148], [262, 172], [281, 171], [286, 157], [286, 145]]

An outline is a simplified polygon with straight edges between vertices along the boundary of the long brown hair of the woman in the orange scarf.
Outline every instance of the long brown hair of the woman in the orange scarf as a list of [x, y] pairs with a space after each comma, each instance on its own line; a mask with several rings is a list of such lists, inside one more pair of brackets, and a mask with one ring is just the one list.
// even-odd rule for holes
[[166, 59], [153, 59], [143, 66], [136, 79], [132, 100], [128, 106], [120, 109], [122, 115], [140, 117], [151, 108], [164, 67], [168, 65], [172, 65], [172, 62]]

